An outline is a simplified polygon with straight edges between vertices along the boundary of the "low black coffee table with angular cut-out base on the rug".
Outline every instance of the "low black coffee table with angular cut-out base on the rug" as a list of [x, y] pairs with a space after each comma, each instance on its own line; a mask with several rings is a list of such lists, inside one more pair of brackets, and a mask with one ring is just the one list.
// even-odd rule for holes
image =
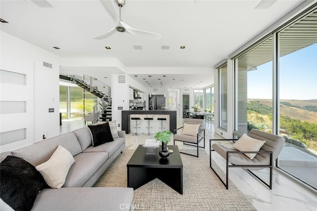
[[178, 193], [183, 194], [183, 163], [178, 147], [173, 145], [167, 145], [167, 147], [172, 149], [173, 153], [170, 153], [164, 162], [159, 157], [160, 148], [156, 149], [155, 155], [147, 155], [147, 148], [142, 145], [138, 146], [127, 163], [128, 187], [135, 190], [158, 178]]

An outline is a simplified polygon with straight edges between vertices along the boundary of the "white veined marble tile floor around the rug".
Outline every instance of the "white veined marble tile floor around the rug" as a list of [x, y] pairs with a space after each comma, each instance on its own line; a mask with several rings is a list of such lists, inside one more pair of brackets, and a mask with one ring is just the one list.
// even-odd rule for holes
[[[62, 124], [64, 124], [64, 122]], [[70, 129], [68, 131], [71, 131], [73, 128], [80, 128], [84, 125], [83, 120], [65, 122], [64, 126], [61, 126], [61, 132], [67, 132], [67, 129]], [[182, 119], [179, 119], [177, 120], [177, 128], [181, 126]], [[155, 133], [151, 133], [150, 135], [139, 134], [138, 136], [133, 136], [132, 133], [126, 134], [126, 149], [136, 149], [138, 145], [144, 144], [147, 138], [153, 138], [154, 134]], [[205, 150], [209, 152], [209, 139], [221, 137], [214, 133], [213, 124], [206, 124], [205, 136]], [[169, 144], [173, 144], [173, 141]], [[229, 145], [231, 143], [227, 144]], [[180, 149], [193, 148], [190, 146], [184, 146], [182, 142], [177, 142], [177, 145]], [[195, 157], [193, 157], [193, 159], [195, 159]], [[222, 157], [213, 152], [212, 159], [222, 170], [225, 170], [225, 160]], [[212, 170], [211, 173], [213, 173]], [[265, 181], [268, 181], [268, 170], [264, 169], [262, 171], [256, 171], [256, 173], [261, 178], [264, 178]], [[248, 198], [258, 211], [317, 210], [317, 195], [315, 193], [307, 190], [275, 169], [273, 170], [272, 190], [269, 190], [262, 182], [242, 168], [231, 168], [229, 172], [229, 179]], [[223, 188], [225, 187], [223, 186]]]

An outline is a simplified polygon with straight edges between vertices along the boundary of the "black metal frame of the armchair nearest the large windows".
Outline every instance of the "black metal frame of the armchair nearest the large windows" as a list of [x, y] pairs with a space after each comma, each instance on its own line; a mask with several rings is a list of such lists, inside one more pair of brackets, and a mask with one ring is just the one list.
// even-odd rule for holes
[[[212, 168], [211, 165], [211, 152], [215, 151], [211, 148], [211, 141], [233, 141], [238, 139], [210, 139], [209, 140], [209, 146], [210, 146], [210, 168], [213, 170], [213, 172], [216, 174], [216, 176], [220, 179], [222, 184], [226, 187], [228, 190], [228, 180], [229, 180], [229, 168], [269, 168], [269, 184], [267, 184], [263, 179], [261, 179], [259, 176], [257, 176], [254, 172], [252, 172], [250, 169], [245, 169], [249, 173], [251, 173], [253, 176], [258, 178], [261, 182], [263, 182], [267, 187], [269, 187], [270, 190], [272, 190], [272, 175], [273, 175], [273, 157], [272, 157], [272, 151], [259, 151], [259, 152], [250, 152], [250, 151], [227, 151], [226, 153], [226, 182], [224, 182], [221, 177], [218, 175], [218, 173]], [[257, 153], [257, 154], [269, 154], [270, 162], [269, 165], [229, 165], [229, 154], [243, 154], [243, 153]]]

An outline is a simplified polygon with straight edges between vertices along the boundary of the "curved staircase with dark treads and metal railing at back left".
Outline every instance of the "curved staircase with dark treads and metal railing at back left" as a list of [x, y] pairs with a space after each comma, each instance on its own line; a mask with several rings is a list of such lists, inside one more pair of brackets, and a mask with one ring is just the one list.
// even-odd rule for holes
[[96, 78], [86, 75], [59, 75], [59, 78], [71, 81], [100, 98], [93, 107], [93, 123], [112, 120], [110, 86], [98, 81]]

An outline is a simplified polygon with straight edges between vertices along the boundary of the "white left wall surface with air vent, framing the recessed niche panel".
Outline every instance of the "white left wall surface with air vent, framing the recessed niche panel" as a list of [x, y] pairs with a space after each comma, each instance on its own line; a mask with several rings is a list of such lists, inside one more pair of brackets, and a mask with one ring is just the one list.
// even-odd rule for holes
[[[59, 64], [61, 58], [33, 44], [22, 41], [7, 33], [0, 32], [1, 51], [27, 59], [33, 63], [34, 81], [34, 138], [28, 143], [42, 140], [44, 131], [47, 137], [59, 135]], [[53, 69], [43, 66], [43, 62], [53, 65]], [[12, 61], [13, 63], [18, 61]], [[8, 91], [8, 90], [6, 90]], [[28, 92], [28, 94], [31, 94]], [[54, 108], [54, 113], [49, 113]]]

